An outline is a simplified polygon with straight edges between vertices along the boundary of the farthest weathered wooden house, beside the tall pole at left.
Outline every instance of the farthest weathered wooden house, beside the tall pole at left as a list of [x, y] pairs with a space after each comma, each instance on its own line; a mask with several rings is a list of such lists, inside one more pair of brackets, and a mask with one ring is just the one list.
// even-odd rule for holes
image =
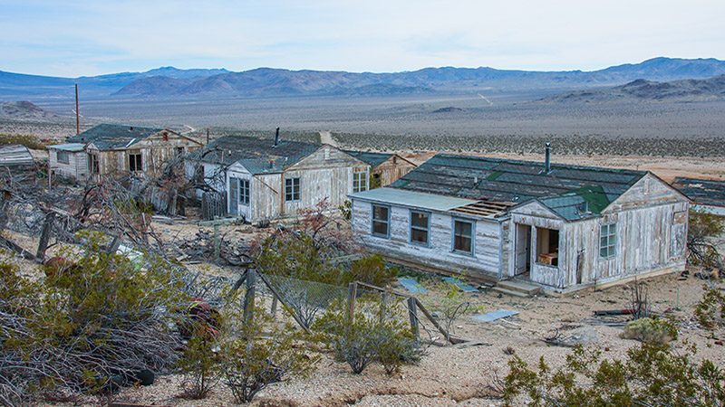
[[79, 180], [92, 175], [153, 174], [169, 160], [199, 147], [168, 128], [101, 124], [48, 146], [51, 170]]

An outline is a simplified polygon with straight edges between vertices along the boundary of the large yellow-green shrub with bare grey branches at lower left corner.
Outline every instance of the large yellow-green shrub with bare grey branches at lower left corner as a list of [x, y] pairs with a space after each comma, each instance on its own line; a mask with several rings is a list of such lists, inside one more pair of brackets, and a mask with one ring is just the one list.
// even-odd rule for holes
[[181, 280], [154, 256], [137, 270], [102, 251], [100, 234], [82, 239], [82, 251], [60, 250], [67, 261], [44, 267], [44, 279], [0, 264], [0, 404], [37, 391], [108, 390], [112, 377], [176, 364], [189, 300]]

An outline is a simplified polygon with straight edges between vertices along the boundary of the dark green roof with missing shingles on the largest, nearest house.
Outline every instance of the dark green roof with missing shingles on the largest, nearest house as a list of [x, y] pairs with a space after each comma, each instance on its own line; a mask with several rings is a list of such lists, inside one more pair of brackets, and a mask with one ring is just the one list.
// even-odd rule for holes
[[647, 173], [439, 154], [391, 185], [428, 194], [521, 204], [538, 199], [567, 220], [600, 213]]

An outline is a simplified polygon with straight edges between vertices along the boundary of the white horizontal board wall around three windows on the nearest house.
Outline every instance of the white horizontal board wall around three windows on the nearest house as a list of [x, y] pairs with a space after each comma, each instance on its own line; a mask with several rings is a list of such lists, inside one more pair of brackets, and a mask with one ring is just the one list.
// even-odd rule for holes
[[502, 228], [497, 221], [460, 218], [475, 222], [474, 254], [467, 255], [452, 251], [454, 216], [430, 213], [428, 247], [411, 243], [410, 216], [411, 208], [391, 206], [390, 239], [373, 236], [372, 203], [353, 199], [353, 233], [370, 250], [453, 273], [498, 278]]

